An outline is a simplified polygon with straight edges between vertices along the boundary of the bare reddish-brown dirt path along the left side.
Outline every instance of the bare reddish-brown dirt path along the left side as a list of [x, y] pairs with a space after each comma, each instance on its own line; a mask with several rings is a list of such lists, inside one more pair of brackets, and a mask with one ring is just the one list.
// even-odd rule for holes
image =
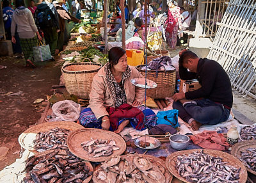
[[[19, 158], [19, 135], [34, 125], [43, 111], [36, 112], [33, 102], [51, 95], [51, 86], [60, 82], [60, 67], [54, 62], [36, 63], [25, 68], [24, 61], [14, 57], [0, 57], [0, 147], [8, 147], [7, 158], [0, 161], [0, 170]], [[12, 92], [12, 94], [11, 94]]]

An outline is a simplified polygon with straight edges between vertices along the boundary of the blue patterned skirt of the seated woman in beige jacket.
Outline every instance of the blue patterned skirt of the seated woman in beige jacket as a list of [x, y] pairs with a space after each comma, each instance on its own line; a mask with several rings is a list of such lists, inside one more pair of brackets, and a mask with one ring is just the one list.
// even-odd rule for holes
[[[144, 106], [139, 106], [138, 109], [140, 109], [145, 115], [145, 124], [141, 130], [150, 129], [154, 127], [156, 125], [156, 120], [157, 120], [156, 114], [154, 113], [154, 111], [152, 111], [147, 107], [145, 109]], [[80, 124], [83, 125], [84, 127], [101, 129], [102, 120], [101, 118], [99, 119], [96, 118], [96, 116], [94, 115], [90, 107], [83, 109], [83, 111], [81, 111], [78, 120]], [[118, 124], [120, 125], [120, 123], [124, 122], [124, 120], [129, 120], [131, 126], [134, 127], [134, 129], [138, 125], [137, 118], [120, 118], [118, 120]], [[109, 131], [113, 131], [113, 129], [111, 129], [110, 127]]]

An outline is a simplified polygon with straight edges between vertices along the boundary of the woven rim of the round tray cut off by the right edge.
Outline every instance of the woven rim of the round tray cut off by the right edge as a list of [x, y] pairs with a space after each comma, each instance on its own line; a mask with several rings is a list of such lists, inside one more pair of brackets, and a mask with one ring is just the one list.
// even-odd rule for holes
[[[231, 150], [231, 154], [236, 156], [238, 159], [239, 157], [241, 157], [241, 150], [246, 150], [247, 148], [256, 148], [256, 140], [252, 139], [252, 140], [244, 140], [241, 141], [239, 143], [236, 143]], [[243, 162], [242, 162], [243, 163]], [[246, 170], [249, 171], [250, 173], [256, 175], [256, 171], [251, 170], [250, 168], [247, 168], [247, 166], [245, 166]]]

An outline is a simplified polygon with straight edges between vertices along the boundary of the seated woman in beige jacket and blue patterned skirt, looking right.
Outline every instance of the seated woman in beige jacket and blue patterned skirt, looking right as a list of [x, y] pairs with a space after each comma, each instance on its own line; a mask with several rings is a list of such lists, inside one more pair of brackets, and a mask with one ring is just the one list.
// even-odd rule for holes
[[79, 116], [81, 125], [116, 133], [129, 123], [138, 130], [156, 125], [155, 113], [140, 106], [145, 89], [132, 85], [131, 79], [143, 76], [135, 67], [127, 65], [124, 49], [113, 47], [108, 57], [109, 63], [93, 77], [90, 105]]

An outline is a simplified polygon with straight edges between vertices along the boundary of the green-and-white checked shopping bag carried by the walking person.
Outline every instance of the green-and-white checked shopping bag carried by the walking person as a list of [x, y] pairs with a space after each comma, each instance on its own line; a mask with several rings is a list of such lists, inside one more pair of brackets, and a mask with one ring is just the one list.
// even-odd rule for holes
[[49, 45], [45, 45], [44, 42], [39, 43], [38, 46], [33, 47], [34, 61], [51, 60], [51, 50]]

